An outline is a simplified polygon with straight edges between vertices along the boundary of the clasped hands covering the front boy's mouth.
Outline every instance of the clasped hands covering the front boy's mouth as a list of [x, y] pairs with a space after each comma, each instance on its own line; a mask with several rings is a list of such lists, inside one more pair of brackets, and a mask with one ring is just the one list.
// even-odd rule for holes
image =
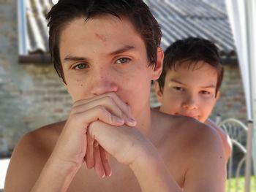
[[99, 177], [110, 176], [108, 153], [126, 165], [136, 158], [134, 149], [143, 135], [135, 125], [129, 106], [116, 93], [75, 101], [52, 156], [77, 169], [86, 164]]

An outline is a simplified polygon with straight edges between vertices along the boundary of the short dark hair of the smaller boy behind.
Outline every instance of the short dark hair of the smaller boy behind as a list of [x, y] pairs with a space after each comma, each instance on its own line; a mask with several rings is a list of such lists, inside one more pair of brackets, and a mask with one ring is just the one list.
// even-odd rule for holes
[[177, 66], [186, 61], [191, 61], [191, 65], [195, 69], [195, 63], [204, 61], [214, 67], [217, 71], [217, 87], [216, 94], [219, 91], [223, 78], [223, 66], [219, 55], [219, 49], [213, 42], [207, 39], [197, 37], [189, 37], [174, 42], [165, 50], [164, 66], [162, 74], [157, 80], [159, 82], [160, 91], [163, 92], [165, 86], [165, 76], [168, 70], [176, 70]]

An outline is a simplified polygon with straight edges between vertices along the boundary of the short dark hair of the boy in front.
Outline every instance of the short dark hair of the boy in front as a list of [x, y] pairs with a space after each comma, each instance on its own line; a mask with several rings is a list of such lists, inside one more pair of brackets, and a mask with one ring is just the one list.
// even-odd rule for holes
[[76, 18], [85, 18], [86, 22], [90, 18], [107, 14], [128, 18], [146, 45], [149, 65], [154, 66], [157, 63], [157, 47], [160, 45], [162, 32], [143, 0], [59, 0], [46, 18], [49, 26], [50, 55], [56, 72], [64, 82], [59, 55], [61, 30]]

